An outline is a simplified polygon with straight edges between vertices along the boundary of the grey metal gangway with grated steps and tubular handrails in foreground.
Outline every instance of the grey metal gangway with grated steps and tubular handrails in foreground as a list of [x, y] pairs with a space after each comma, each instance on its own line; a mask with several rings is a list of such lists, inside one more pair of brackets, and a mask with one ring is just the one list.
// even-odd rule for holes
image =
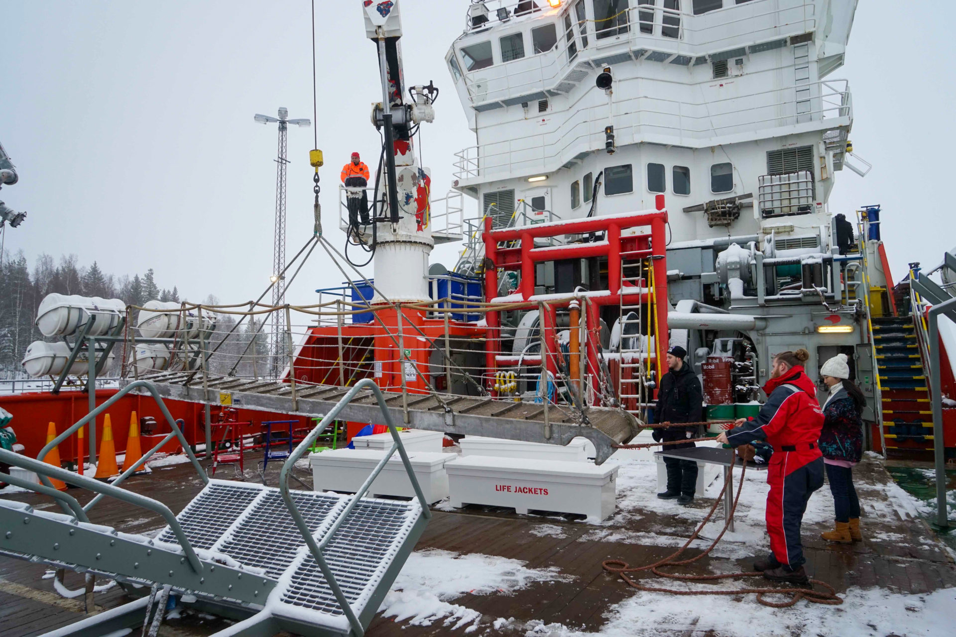
[[[112, 484], [99, 482], [42, 461], [60, 439], [73, 435], [130, 392], [152, 395], [172, 432], [120, 478]], [[294, 463], [359, 393], [366, 392], [375, 396], [394, 444], [359, 492], [343, 496], [290, 489]], [[162, 502], [118, 486], [174, 436], [206, 483], [178, 516]], [[396, 452], [417, 498], [365, 498]], [[3, 474], [0, 480], [54, 498], [63, 513], [0, 499], [0, 554], [86, 573], [88, 590], [92, 590], [92, 574], [114, 579], [127, 593], [140, 596], [49, 632], [48, 637], [103, 637], [139, 626], [143, 634], [148, 629], [149, 635], [156, 635], [171, 593], [194, 596], [203, 610], [240, 620], [216, 633], [222, 637], [273, 635], [282, 630], [360, 637], [431, 517], [385, 397], [371, 379], [360, 380], [342, 395], [298, 444], [283, 465], [278, 488], [207, 478], [156, 386], [144, 380], [130, 383], [54, 438], [39, 458], [0, 450], [0, 460], [35, 472], [43, 484]], [[55, 490], [51, 479], [98, 496], [80, 506], [73, 496]], [[93, 523], [87, 514], [104, 497], [158, 513], [167, 526], [150, 539]]]

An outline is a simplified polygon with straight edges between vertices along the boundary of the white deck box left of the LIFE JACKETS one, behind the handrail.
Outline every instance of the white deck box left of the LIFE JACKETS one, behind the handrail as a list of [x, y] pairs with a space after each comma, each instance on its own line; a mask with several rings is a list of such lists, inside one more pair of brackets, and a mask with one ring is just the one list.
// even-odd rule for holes
[[[313, 488], [315, 491], [356, 493], [386, 453], [378, 449], [336, 449], [311, 454], [309, 464], [312, 465]], [[408, 452], [415, 478], [429, 504], [448, 497], [445, 462], [455, 457], [454, 454], [441, 452]], [[415, 489], [398, 452], [389, 458], [379, 477], [372, 482], [367, 495], [374, 498], [415, 498]]]

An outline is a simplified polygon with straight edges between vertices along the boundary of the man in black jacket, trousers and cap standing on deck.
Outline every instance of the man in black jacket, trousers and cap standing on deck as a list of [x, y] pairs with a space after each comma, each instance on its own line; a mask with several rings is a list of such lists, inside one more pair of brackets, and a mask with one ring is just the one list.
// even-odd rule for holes
[[[655, 420], [660, 423], [701, 422], [704, 417], [704, 397], [697, 374], [684, 363], [687, 351], [679, 345], [667, 350], [667, 372], [661, 378]], [[670, 442], [697, 437], [697, 427], [668, 427], [655, 429], [654, 439]], [[667, 445], [666, 449], [694, 447], [693, 442]], [[663, 458], [667, 466], [667, 490], [660, 499], [677, 499], [682, 504], [692, 502], [697, 486], [697, 462], [676, 457]]]

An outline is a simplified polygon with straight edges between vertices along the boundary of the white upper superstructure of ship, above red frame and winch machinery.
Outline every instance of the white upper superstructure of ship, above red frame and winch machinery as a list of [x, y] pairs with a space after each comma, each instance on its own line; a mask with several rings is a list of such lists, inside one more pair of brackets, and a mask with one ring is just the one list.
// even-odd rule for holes
[[[477, 2], [446, 55], [477, 140], [458, 154], [457, 187], [494, 204], [496, 224], [522, 201], [570, 219], [664, 193], [676, 242], [819, 238], [853, 122], [847, 82], [829, 76], [856, 2], [553, 4]], [[605, 67], [610, 91], [595, 85]], [[685, 210], [731, 198], [753, 205]]]

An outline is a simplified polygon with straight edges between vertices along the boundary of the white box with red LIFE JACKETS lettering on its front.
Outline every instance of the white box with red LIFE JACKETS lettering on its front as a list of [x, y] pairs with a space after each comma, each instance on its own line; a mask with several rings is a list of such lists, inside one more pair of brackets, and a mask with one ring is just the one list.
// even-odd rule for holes
[[617, 497], [618, 464], [467, 456], [445, 463], [451, 505], [487, 504], [609, 518]]

